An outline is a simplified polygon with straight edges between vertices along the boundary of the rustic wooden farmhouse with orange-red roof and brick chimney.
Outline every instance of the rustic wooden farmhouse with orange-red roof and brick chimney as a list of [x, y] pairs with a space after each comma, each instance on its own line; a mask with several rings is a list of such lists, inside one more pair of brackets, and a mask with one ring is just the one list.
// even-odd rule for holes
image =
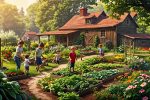
[[124, 34], [137, 33], [136, 13], [125, 13], [119, 19], [108, 16], [104, 11], [88, 13], [81, 8], [78, 15], [74, 15], [64, 26], [57, 31], [38, 34], [40, 36], [55, 35], [56, 41], [65, 45], [72, 45], [83, 33], [85, 44], [93, 45], [95, 36], [100, 43], [111, 41], [114, 46], [122, 43]]

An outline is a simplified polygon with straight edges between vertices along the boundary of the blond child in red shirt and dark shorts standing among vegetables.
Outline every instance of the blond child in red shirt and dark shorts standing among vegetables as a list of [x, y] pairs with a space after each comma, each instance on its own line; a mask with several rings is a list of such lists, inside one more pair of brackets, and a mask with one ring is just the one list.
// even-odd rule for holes
[[70, 72], [71, 72], [71, 69], [74, 72], [75, 61], [77, 59], [75, 50], [76, 50], [75, 47], [71, 47], [71, 52], [69, 54], [69, 58], [70, 58], [70, 60], [69, 60], [70, 61]]

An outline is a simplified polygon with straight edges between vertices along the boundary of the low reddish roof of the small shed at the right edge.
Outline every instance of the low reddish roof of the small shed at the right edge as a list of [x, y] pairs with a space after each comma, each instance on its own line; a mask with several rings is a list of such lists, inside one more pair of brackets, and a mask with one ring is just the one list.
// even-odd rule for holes
[[131, 38], [131, 39], [150, 39], [150, 34], [125, 34], [125, 37]]

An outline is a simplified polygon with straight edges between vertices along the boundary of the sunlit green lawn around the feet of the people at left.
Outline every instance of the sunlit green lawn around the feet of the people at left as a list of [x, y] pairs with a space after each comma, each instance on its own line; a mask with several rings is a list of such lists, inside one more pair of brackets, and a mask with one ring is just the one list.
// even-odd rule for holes
[[[5, 71], [5, 72], [16, 72], [16, 64], [13, 61], [3, 62], [3, 66], [8, 68], [8, 70]], [[50, 70], [52, 70], [53, 68], [55, 68], [57, 66], [58, 66], [58, 64], [48, 63], [48, 66], [42, 67], [41, 71], [50, 71]], [[23, 64], [21, 65], [21, 69], [20, 70], [24, 71]], [[31, 76], [35, 76], [35, 75], [38, 75], [38, 74], [39, 74], [39, 72], [36, 71], [36, 66], [31, 65], [30, 66], [30, 75]]]

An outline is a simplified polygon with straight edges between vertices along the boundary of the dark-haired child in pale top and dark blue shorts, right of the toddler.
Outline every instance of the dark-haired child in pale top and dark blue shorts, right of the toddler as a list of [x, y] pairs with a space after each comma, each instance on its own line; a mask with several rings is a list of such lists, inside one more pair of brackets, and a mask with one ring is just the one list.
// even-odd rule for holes
[[42, 66], [42, 49], [44, 48], [44, 44], [40, 43], [38, 48], [36, 49], [35, 59], [36, 59], [36, 70], [39, 71], [39, 68]]

